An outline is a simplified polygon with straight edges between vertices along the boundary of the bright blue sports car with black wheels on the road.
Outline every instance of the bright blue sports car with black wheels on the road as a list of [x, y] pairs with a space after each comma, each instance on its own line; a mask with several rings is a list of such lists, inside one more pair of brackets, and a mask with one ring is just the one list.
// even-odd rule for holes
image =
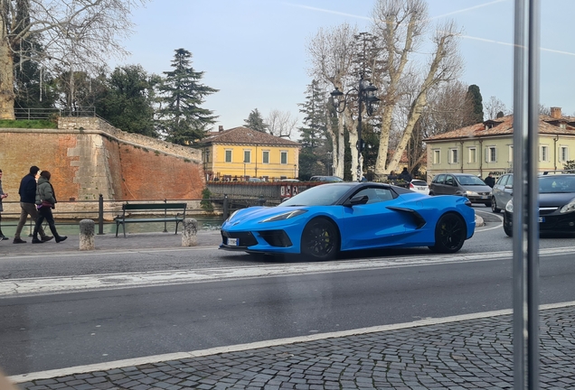
[[220, 248], [312, 260], [386, 247], [454, 253], [474, 234], [470, 206], [465, 197], [430, 197], [384, 183], [322, 184], [276, 207], [237, 210], [222, 225]]

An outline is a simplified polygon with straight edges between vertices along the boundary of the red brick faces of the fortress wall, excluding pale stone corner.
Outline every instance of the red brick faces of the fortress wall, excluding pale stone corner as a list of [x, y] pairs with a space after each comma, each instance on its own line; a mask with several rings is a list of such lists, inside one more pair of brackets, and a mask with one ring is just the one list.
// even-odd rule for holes
[[[115, 200], [202, 198], [201, 164], [184, 157], [109, 141], [106, 137], [103, 140], [108, 150], [108, 172]], [[69, 148], [76, 144], [77, 135], [73, 133], [0, 130], [2, 186], [10, 194], [6, 200], [20, 199], [20, 181], [32, 165], [52, 173], [52, 185], [59, 200], [80, 200], [80, 184], [73, 181], [80, 159], [68, 155]]]

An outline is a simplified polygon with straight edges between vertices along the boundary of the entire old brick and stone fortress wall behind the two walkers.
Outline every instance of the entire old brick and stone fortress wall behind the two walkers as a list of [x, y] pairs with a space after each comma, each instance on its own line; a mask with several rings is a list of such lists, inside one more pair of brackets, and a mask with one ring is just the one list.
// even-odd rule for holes
[[[58, 200], [199, 200], [205, 186], [201, 152], [122, 132], [99, 118], [61, 118], [58, 129], [0, 128], [0, 169], [17, 211], [18, 187], [30, 166], [52, 172]], [[91, 203], [91, 202], [90, 202]], [[93, 209], [93, 204], [86, 206]], [[13, 210], [14, 209], [14, 210]]]

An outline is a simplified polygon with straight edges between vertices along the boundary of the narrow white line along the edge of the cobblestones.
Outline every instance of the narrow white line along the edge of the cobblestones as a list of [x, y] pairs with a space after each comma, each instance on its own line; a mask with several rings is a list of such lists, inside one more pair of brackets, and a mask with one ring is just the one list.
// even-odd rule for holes
[[[575, 302], [561, 302], [561, 303], [551, 303], [541, 305], [539, 307], [540, 310], [550, 310], [550, 309], [559, 309], [569, 306], [575, 306]], [[329, 333], [317, 333], [307, 336], [299, 336], [294, 338], [286, 338], [286, 339], [272, 339], [266, 341], [258, 341], [252, 342], [248, 344], [237, 344], [228, 347], [218, 347], [218, 348], [209, 348], [209, 349], [201, 349], [195, 350], [190, 352], [177, 352], [171, 354], [164, 354], [164, 355], [155, 355], [155, 356], [148, 356], [148, 357], [135, 357], [130, 359], [124, 360], [116, 360], [116, 361], [109, 361], [105, 363], [98, 363], [93, 365], [86, 365], [86, 366], [77, 366], [77, 367], [67, 367], [67, 368], [60, 368], [60, 369], [53, 369], [48, 371], [40, 371], [28, 374], [22, 374], [17, 376], [8, 376], [8, 379], [14, 383], [24, 383], [33, 380], [39, 379], [50, 379], [53, 377], [58, 376], [71, 376], [71, 375], [78, 375], [83, 373], [90, 373], [95, 371], [108, 371], [111, 369], [117, 369], [121, 367], [134, 367], [144, 364], [152, 364], [158, 363], [162, 361], [169, 361], [169, 360], [180, 360], [184, 358], [193, 358], [193, 357], [205, 357], [211, 356], [216, 354], [228, 353], [228, 352], [237, 352], [237, 351], [244, 351], [250, 349], [257, 349], [257, 348], [268, 348], [268, 347], [276, 347], [281, 345], [287, 344], [295, 344], [300, 342], [306, 341], [315, 341], [319, 339], [335, 339], [335, 338], [342, 338], [354, 335], [361, 335], [361, 334], [369, 334], [375, 332], [382, 332], [382, 331], [389, 331], [389, 330], [403, 330], [409, 328], [417, 328], [423, 327], [428, 325], [438, 325], [438, 324], [445, 324], [450, 322], [458, 322], [463, 320], [479, 320], [489, 317], [496, 317], [496, 316], [503, 316], [512, 314], [513, 311], [511, 309], [505, 309], [500, 311], [484, 311], [478, 313], [471, 313], [471, 314], [463, 314], [451, 317], [444, 317], [444, 318], [427, 318], [424, 320], [415, 320], [411, 322], [403, 322], [399, 324], [391, 324], [391, 325], [382, 325], [382, 326], [375, 326], [370, 328], [362, 328], [356, 330], [341, 330], [336, 332], [329, 332]]]

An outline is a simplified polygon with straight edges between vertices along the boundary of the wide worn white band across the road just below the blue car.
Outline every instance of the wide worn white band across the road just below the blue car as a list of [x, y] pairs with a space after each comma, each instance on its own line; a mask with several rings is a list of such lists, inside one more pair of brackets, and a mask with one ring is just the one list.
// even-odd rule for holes
[[[574, 247], [540, 250], [541, 256], [573, 253], [575, 253]], [[168, 284], [206, 283], [297, 274], [326, 274], [366, 269], [486, 262], [499, 259], [511, 259], [512, 257], [512, 251], [502, 251], [491, 252], [488, 255], [482, 253], [467, 255], [416, 255], [393, 258], [373, 257], [368, 260], [345, 260], [310, 264], [246, 265], [228, 268], [204, 268], [145, 273], [7, 279], [0, 282], [0, 299], [41, 294], [114, 290]]]

